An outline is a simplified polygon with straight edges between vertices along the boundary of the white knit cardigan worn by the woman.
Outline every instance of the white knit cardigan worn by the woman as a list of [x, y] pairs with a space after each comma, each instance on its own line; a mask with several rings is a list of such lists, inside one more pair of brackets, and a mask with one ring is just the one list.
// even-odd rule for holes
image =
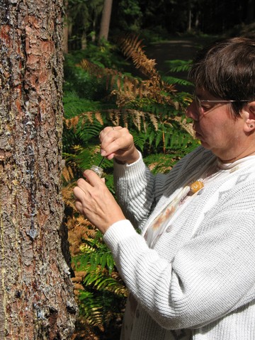
[[171, 194], [212, 157], [198, 147], [157, 176], [142, 159], [115, 164], [127, 220], [104, 241], [138, 302], [131, 340], [181, 339], [170, 331], [178, 329], [191, 329], [193, 340], [255, 339], [255, 157], [191, 200], [154, 249], [142, 237]]

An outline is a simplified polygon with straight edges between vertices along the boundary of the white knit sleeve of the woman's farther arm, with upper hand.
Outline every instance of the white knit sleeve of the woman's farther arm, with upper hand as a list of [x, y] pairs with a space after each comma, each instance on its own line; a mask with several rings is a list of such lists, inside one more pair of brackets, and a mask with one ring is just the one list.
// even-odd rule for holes
[[[115, 193], [118, 197], [125, 217], [135, 228], [142, 231], [149, 215], [159, 199], [166, 192], [170, 195], [176, 190], [177, 183], [186, 181], [188, 174], [201, 165], [201, 158], [207, 162], [209, 156], [204, 156], [204, 149], [199, 147], [191, 154], [183, 157], [168, 174], [152, 174], [140, 159], [133, 164], [114, 165]], [[177, 180], [178, 179], [178, 180]]]

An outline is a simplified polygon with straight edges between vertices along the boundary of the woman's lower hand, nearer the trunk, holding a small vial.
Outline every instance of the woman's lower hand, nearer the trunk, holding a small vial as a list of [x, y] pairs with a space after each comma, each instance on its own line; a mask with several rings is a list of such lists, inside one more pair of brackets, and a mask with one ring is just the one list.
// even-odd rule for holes
[[84, 179], [74, 188], [77, 210], [85, 215], [103, 234], [108, 227], [125, 216], [102, 179], [92, 170], [84, 171]]

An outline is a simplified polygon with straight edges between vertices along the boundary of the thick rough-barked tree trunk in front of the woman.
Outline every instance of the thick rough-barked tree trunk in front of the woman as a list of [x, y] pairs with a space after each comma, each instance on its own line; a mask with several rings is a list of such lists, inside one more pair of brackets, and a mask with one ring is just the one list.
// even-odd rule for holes
[[1, 0], [0, 339], [71, 339], [63, 229], [62, 0]]

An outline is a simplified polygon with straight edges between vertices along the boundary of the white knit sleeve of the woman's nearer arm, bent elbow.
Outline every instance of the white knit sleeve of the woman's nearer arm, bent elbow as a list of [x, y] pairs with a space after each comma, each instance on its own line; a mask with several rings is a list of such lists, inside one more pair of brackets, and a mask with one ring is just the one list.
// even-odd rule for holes
[[162, 327], [201, 327], [254, 300], [254, 192], [247, 183], [219, 200], [204, 232], [172, 261], [149, 249], [129, 221], [108, 229], [104, 240], [128, 289]]

